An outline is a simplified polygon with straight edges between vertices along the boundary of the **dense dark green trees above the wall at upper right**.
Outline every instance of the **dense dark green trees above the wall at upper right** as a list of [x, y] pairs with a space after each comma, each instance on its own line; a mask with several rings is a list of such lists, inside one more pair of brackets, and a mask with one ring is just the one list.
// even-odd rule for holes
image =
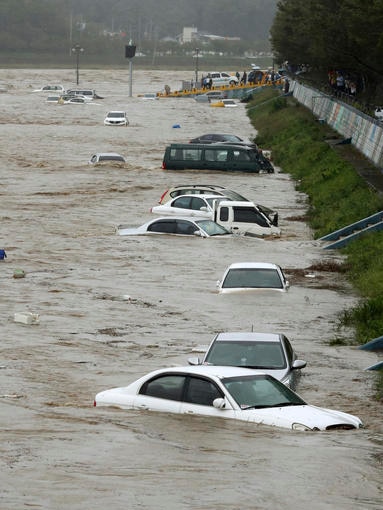
[[357, 75], [371, 97], [383, 82], [382, 27], [382, 0], [280, 0], [271, 45], [280, 62]]

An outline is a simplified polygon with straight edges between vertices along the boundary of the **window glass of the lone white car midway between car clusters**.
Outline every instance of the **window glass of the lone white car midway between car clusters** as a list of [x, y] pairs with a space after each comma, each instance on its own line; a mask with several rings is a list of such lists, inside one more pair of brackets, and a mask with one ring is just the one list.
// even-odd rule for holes
[[229, 270], [222, 288], [282, 289], [283, 285], [276, 269], [238, 268]]

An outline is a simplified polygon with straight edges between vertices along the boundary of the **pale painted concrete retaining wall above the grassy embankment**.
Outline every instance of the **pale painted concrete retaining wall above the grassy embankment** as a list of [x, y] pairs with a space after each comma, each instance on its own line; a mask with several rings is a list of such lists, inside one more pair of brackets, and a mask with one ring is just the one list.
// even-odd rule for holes
[[318, 90], [290, 82], [290, 91], [319, 120], [329, 124], [378, 167], [383, 167], [383, 124]]

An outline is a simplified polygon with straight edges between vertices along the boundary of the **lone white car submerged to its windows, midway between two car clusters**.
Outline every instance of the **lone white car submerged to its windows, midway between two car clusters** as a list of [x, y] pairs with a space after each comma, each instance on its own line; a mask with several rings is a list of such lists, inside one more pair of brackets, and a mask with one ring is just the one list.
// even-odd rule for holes
[[268, 262], [236, 262], [224, 272], [217, 282], [221, 293], [244, 290], [272, 290], [286, 292], [289, 282], [280, 266]]

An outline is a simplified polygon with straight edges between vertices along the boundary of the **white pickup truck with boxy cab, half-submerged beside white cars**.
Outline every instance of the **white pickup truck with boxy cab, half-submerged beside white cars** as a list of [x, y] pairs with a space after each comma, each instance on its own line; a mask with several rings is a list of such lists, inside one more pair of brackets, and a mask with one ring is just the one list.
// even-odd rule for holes
[[281, 230], [253, 202], [214, 202], [212, 219], [233, 234], [280, 236]]

